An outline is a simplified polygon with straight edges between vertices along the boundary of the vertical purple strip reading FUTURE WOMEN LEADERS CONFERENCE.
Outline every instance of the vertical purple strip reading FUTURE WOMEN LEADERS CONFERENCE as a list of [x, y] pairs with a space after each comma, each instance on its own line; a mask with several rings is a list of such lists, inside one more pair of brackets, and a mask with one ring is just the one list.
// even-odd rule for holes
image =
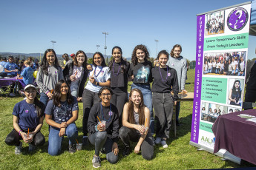
[[194, 76], [194, 104], [191, 123], [191, 141], [198, 143], [200, 126], [201, 81], [203, 74], [203, 41], [205, 31], [205, 16], [197, 16], [197, 52]]

